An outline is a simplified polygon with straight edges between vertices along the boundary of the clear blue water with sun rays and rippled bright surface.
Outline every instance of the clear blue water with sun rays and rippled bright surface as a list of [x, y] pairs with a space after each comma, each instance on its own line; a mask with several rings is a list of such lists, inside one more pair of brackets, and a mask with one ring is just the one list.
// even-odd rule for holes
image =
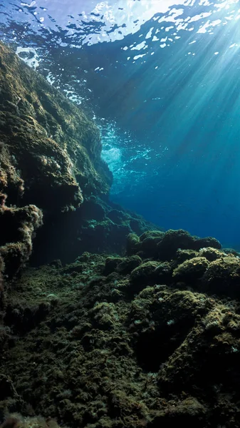
[[238, 0], [0, 0], [0, 38], [100, 126], [110, 198], [240, 249]]

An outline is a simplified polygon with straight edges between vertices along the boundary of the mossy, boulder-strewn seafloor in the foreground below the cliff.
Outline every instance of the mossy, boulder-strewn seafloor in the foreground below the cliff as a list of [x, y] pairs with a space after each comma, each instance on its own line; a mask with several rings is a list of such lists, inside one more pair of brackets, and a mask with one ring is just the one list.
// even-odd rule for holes
[[[240, 427], [239, 255], [209, 238], [217, 248], [192, 250], [183, 235], [151, 231], [135, 235], [135, 255], [24, 272], [4, 302], [0, 422], [19, 412], [68, 427]], [[165, 259], [142, 251], [150, 236]]]

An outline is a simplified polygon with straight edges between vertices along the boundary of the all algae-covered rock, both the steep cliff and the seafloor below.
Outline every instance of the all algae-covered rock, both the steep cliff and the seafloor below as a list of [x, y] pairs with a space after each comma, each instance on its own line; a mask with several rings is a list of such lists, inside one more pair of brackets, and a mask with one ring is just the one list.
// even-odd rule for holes
[[0, 88], [1, 428], [240, 427], [239, 253], [111, 203], [98, 128], [4, 44]]

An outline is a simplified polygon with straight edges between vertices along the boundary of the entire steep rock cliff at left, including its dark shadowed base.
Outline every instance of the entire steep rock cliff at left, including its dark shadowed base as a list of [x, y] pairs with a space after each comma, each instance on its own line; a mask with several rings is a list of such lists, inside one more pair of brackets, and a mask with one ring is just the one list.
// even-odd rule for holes
[[39, 265], [120, 253], [128, 233], [150, 228], [108, 202], [113, 178], [93, 121], [1, 43], [0, 86], [1, 270], [24, 267], [34, 236]]

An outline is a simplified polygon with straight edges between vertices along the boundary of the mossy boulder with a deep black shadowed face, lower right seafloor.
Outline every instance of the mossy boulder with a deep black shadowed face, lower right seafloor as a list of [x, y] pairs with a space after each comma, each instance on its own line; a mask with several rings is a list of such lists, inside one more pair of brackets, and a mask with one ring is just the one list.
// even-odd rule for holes
[[135, 333], [135, 352], [141, 367], [160, 373], [178, 350], [203, 310], [203, 295], [167, 285], [145, 287], [132, 300], [130, 317]]

